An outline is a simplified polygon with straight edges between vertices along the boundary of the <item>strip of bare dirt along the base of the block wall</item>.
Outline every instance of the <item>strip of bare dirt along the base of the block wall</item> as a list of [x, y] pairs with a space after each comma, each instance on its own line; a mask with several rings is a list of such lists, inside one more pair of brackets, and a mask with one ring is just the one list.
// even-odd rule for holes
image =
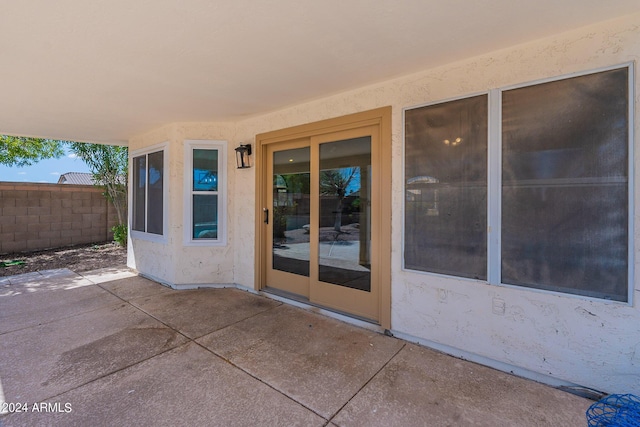
[[0, 255], [0, 277], [56, 268], [81, 272], [126, 263], [127, 248], [109, 242]]

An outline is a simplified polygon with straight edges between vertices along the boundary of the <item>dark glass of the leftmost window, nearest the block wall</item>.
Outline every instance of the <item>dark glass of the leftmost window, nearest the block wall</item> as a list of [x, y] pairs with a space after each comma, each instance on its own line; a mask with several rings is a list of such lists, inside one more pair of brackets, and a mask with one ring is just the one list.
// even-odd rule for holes
[[163, 236], [166, 190], [164, 150], [134, 154], [131, 165], [133, 172], [131, 230]]

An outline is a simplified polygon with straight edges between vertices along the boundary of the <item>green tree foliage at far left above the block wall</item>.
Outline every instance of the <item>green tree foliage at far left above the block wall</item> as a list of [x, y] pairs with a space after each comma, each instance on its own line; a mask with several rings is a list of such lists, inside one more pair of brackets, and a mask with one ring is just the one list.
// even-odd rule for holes
[[31, 166], [44, 159], [57, 159], [64, 154], [68, 141], [0, 135], [0, 164]]

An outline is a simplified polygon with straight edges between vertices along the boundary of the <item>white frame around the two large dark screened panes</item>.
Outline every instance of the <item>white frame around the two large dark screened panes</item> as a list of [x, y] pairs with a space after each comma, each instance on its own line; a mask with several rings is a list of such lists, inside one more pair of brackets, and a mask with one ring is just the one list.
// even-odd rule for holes
[[[506, 288], [517, 289], [522, 292], [535, 292], [544, 294], [559, 295], [567, 298], [578, 298], [583, 300], [590, 300], [604, 304], [617, 304], [633, 306], [634, 304], [634, 284], [635, 284], [635, 150], [634, 150], [634, 123], [635, 123], [635, 109], [634, 109], [634, 93], [635, 93], [635, 67], [633, 62], [612, 65], [609, 67], [597, 68], [594, 70], [565, 74], [562, 76], [551, 77], [547, 79], [540, 79], [532, 82], [496, 88], [488, 91], [489, 94], [489, 109], [488, 114], [488, 132], [489, 143], [487, 159], [488, 159], [488, 176], [487, 176], [487, 280], [470, 279], [461, 276], [444, 275], [441, 273], [432, 273], [427, 271], [412, 270], [405, 267], [404, 263], [404, 250], [405, 250], [405, 197], [403, 197], [403, 212], [402, 212], [402, 270], [414, 274], [427, 275], [432, 277], [440, 277], [443, 279], [454, 279], [456, 281], [473, 281], [480, 283], [488, 283], [490, 285], [501, 286]], [[626, 68], [628, 70], [628, 230], [627, 230], [627, 245], [628, 245], [628, 277], [627, 277], [627, 301], [615, 301], [609, 299], [603, 299], [598, 297], [591, 297], [587, 295], [572, 294], [561, 291], [537, 289], [527, 286], [511, 285], [502, 282], [501, 277], [501, 252], [502, 252], [502, 92], [523, 88], [528, 86], [534, 86], [538, 84], [544, 84], [553, 81], [570, 79], [573, 77], [581, 77], [589, 74], [619, 70]], [[469, 98], [483, 94], [487, 92], [473, 93], [467, 96], [461, 96], [456, 98], [450, 98], [435, 102], [429, 102], [419, 104], [411, 107], [403, 108], [402, 110], [402, 176], [404, 181], [405, 173], [405, 160], [406, 160], [406, 147], [405, 147], [405, 112], [415, 108], [441, 104], [443, 102], [455, 101], [459, 99]], [[403, 191], [405, 191], [405, 184], [403, 183]], [[404, 194], [404, 193], [403, 193]]]

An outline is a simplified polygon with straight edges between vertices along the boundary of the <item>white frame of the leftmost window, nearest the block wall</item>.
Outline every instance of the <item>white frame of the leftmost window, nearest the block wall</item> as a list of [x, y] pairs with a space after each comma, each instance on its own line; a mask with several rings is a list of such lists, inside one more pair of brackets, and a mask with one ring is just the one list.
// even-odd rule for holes
[[[167, 243], [167, 230], [169, 229], [169, 142], [163, 142], [160, 144], [145, 147], [140, 150], [135, 150], [129, 153], [129, 235], [133, 239], [147, 240], [151, 242]], [[134, 189], [134, 176], [133, 176], [133, 159], [141, 156], [148, 156], [149, 154], [162, 151], [162, 234], [149, 233], [146, 231], [138, 231], [132, 229], [133, 224], [133, 189]], [[147, 160], [147, 168], [149, 161]], [[148, 185], [148, 180], [146, 185]], [[149, 192], [145, 191], [145, 229], [148, 213], [148, 196]]]

